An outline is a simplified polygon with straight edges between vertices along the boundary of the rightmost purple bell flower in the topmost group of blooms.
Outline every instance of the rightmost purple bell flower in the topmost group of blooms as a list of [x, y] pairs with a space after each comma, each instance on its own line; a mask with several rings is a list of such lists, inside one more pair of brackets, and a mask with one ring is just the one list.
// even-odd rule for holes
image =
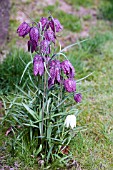
[[63, 26], [60, 24], [60, 21], [56, 18], [52, 18], [49, 25], [53, 32], [60, 32], [63, 29]]

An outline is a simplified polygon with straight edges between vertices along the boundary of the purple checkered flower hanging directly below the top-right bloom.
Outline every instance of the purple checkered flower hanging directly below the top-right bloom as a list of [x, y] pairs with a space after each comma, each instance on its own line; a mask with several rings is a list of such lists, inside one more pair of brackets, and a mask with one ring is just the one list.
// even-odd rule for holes
[[52, 30], [47, 30], [44, 33], [45, 39], [48, 41], [52, 41], [53, 43], [55, 43], [55, 33]]

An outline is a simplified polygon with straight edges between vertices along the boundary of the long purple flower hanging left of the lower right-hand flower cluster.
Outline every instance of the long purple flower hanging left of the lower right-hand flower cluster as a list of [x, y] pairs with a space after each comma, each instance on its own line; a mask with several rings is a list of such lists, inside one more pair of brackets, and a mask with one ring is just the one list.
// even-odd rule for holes
[[44, 58], [39, 55], [35, 55], [33, 60], [33, 73], [35, 76], [38, 74], [42, 76], [44, 74]]

